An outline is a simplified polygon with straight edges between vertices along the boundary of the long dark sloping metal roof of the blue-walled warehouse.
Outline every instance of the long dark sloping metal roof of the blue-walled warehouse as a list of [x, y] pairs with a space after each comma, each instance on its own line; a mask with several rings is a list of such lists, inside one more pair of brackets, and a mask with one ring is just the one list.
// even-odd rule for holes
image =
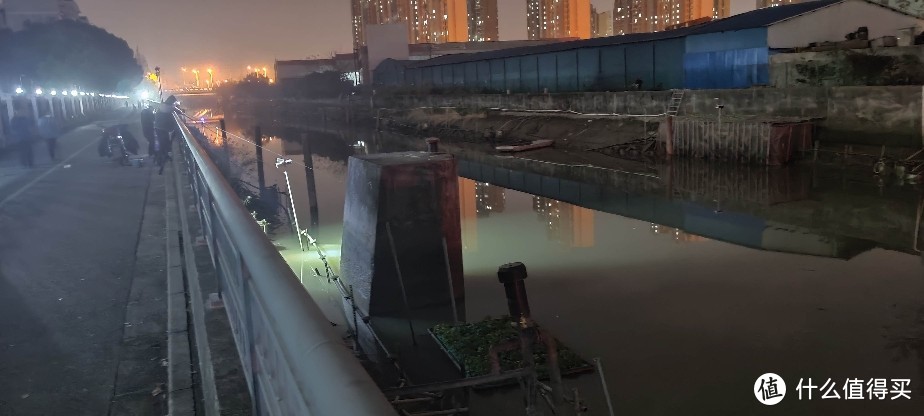
[[450, 65], [464, 62], [484, 61], [488, 59], [509, 58], [514, 56], [532, 55], [538, 53], [561, 52], [580, 48], [593, 48], [600, 46], [623, 45], [630, 43], [652, 42], [657, 40], [681, 38], [690, 35], [705, 33], [727, 32], [735, 30], [754, 29], [772, 25], [814, 10], [840, 3], [845, 0], [815, 0], [805, 3], [787, 4], [777, 7], [767, 7], [738, 14], [724, 19], [713, 20], [697, 26], [653, 33], [633, 33], [629, 35], [608, 36], [571, 42], [553, 43], [540, 46], [523, 46], [519, 48], [500, 49], [489, 52], [471, 54], [443, 55], [425, 61], [417, 61], [409, 68], [421, 68], [437, 65]]

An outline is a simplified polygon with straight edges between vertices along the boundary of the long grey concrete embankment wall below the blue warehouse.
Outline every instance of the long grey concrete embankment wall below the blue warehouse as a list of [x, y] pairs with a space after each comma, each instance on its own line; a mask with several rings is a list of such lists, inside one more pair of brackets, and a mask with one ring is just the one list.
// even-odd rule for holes
[[[687, 90], [679, 115], [819, 118], [824, 142], [920, 148], [924, 145], [924, 87], [811, 87]], [[718, 99], [718, 100], [716, 100]], [[379, 96], [377, 107], [457, 107], [472, 110], [571, 110], [581, 113], [659, 115], [671, 91], [577, 94], [470, 94]]]

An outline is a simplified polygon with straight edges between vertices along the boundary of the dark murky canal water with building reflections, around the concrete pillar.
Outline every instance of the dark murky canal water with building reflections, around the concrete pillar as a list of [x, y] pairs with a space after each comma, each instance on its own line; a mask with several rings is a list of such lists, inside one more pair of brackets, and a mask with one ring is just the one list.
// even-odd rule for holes
[[[229, 116], [241, 137], [252, 137], [254, 123]], [[422, 141], [263, 129], [266, 182], [285, 190], [288, 172], [303, 228], [312, 218], [302, 148], [284, 139], [308, 134], [318, 194], [312, 235], [335, 269], [347, 157]], [[366, 146], [349, 145], [356, 142]], [[256, 184], [252, 145], [231, 140], [230, 148], [241, 177]], [[276, 168], [276, 154], [294, 163]], [[602, 360], [617, 414], [924, 412], [920, 188], [878, 187], [865, 171], [675, 166], [555, 177], [548, 164], [514, 162], [523, 161], [460, 156], [467, 318], [506, 313], [497, 268], [525, 263], [534, 318], [585, 359]], [[345, 328], [339, 294], [312, 272], [323, 270], [317, 255], [300, 251], [286, 227], [273, 239]], [[787, 383], [778, 405], [754, 396], [764, 373]], [[841, 399], [815, 390], [800, 400], [797, 383], [808, 378], [818, 387], [830, 378]], [[864, 383], [862, 400], [844, 399], [848, 379]], [[871, 379], [909, 379], [911, 399], [892, 400], [889, 381], [886, 399], [871, 400]], [[580, 389], [588, 414], [608, 414], [597, 375], [566, 383]], [[524, 414], [518, 394], [479, 393], [471, 414]]]

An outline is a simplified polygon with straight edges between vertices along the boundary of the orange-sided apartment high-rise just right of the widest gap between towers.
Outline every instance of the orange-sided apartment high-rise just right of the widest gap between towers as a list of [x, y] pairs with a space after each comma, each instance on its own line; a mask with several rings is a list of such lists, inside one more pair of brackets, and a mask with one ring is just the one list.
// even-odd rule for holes
[[527, 0], [529, 39], [591, 37], [590, 0]]

